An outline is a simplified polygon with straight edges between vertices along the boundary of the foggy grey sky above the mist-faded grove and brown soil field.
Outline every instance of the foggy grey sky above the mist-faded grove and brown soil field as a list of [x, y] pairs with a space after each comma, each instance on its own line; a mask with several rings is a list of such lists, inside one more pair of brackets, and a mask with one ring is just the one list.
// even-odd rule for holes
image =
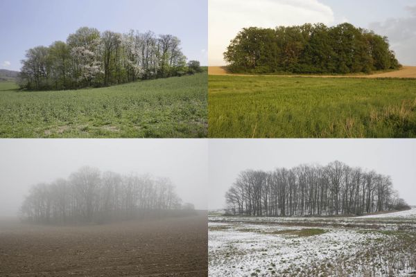
[[16, 215], [28, 189], [82, 166], [169, 177], [184, 202], [207, 208], [207, 140], [1, 139], [0, 216]]

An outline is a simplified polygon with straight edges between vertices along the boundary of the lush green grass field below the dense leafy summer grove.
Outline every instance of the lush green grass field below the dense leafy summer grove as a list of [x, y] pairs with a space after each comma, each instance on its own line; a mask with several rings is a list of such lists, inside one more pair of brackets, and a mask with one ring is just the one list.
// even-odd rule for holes
[[416, 136], [416, 80], [209, 75], [210, 138]]

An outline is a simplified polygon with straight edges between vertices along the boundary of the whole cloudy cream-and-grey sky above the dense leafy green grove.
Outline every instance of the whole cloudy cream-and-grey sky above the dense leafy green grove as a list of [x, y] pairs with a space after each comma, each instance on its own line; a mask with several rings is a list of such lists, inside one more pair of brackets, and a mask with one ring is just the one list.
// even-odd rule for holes
[[209, 0], [209, 65], [225, 64], [223, 53], [242, 28], [318, 22], [386, 35], [399, 62], [416, 65], [415, 0]]

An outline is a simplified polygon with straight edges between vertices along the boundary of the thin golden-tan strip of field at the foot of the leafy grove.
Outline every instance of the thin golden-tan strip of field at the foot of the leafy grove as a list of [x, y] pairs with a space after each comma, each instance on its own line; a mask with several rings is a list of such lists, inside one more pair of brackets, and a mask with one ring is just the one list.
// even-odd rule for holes
[[[255, 76], [249, 74], [232, 74], [225, 71], [224, 66], [209, 66], [209, 75], [238, 75], [238, 76]], [[296, 77], [306, 76], [314, 78], [416, 78], [416, 66], [403, 66], [402, 69], [397, 71], [391, 71], [386, 73], [376, 73], [371, 75], [262, 75], [262, 76], [284, 76], [284, 77]]]

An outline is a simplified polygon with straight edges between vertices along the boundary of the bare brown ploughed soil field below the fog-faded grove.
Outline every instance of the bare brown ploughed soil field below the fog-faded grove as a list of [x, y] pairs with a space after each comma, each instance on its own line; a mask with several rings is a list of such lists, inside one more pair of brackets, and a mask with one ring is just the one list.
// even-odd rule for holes
[[0, 221], [0, 276], [207, 276], [207, 213], [148, 222]]

